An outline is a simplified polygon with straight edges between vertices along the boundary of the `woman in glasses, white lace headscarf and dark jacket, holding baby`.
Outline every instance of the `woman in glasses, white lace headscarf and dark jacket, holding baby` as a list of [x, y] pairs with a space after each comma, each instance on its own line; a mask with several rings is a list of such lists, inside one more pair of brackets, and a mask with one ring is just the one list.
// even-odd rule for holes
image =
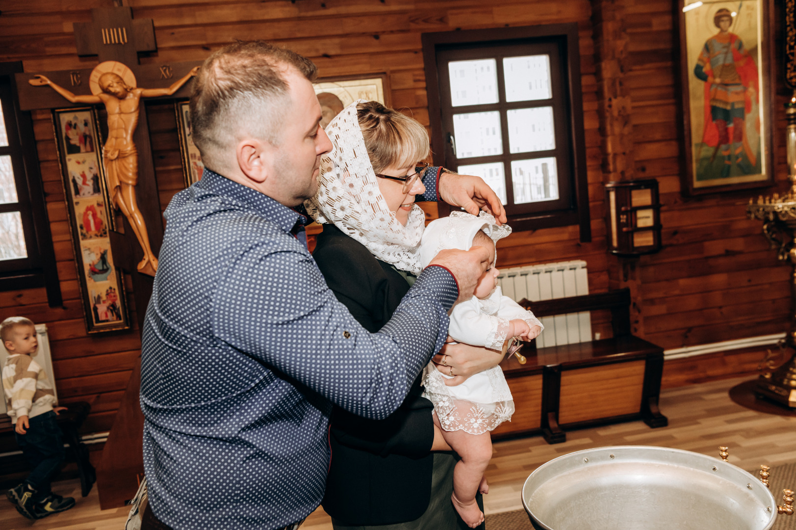
[[[427, 200], [423, 182], [433, 186], [439, 168], [419, 167], [429, 154], [425, 128], [375, 101], [343, 109], [326, 134], [333, 149], [322, 158], [318, 193], [305, 202], [323, 224], [313, 256], [338, 300], [375, 332], [423, 269], [425, 215], [414, 202]], [[422, 320], [416, 332], [425, 332]], [[499, 361], [483, 351], [484, 369]], [[451, 504], [455, 458], [420, 379], [408, 382], [404, 403], [384, 420], [332, 413], [322, 505], [336, 530], [468, 528]]]

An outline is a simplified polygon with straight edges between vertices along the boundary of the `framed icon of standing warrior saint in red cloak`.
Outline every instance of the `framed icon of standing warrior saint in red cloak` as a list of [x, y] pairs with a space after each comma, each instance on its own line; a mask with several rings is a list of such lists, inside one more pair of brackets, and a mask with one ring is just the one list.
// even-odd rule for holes
[[771, 0], [680, 0], [684, 194], [770, 186]]

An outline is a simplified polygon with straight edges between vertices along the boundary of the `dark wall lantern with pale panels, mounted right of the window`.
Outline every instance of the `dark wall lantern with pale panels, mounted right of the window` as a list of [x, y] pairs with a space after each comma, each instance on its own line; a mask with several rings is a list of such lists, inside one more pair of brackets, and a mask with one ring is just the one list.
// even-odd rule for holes
[[618, 256], [640, 256], [661, 249], [661, 203], [657, 180], [605, 185], [608, 205], [608, 249]]

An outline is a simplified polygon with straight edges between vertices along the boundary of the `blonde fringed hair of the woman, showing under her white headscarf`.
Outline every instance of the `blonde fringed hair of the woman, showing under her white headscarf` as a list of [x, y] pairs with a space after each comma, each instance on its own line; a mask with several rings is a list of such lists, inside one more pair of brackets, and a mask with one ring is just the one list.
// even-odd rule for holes
[[431, 151], [423, 125], [378, 101], [358, 104], [357, 119], [377, 173], [391, 166], [409, 167]]

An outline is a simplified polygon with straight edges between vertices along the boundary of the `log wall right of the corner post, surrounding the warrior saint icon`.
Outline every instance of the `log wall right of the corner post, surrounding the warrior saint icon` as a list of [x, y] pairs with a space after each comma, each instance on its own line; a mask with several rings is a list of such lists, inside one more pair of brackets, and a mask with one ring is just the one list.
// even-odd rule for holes
[[[773, 2], [780, 4], [781, 2]], [[655, 178], [661, 192], [664, 249], [620, 264], [612, 283], [634, 279], [643, 336], [664, 347], [706, 344], [782, 332], [791, 308], [789, 267], [778, 262], [761, 235], [761, 223], [746, 218], [751, 190], [683, 198], [677, 140], [679, 77], [670, 0], [627, 0], [625, 24], [632, 101], [634, 176]], [[775, 9], [779, 10], [781, 6]], [[782, 13], [776, 13], [777, 99], [774, 121], [775, 190], [786, 190], [785, 120], [782, 105]]]

